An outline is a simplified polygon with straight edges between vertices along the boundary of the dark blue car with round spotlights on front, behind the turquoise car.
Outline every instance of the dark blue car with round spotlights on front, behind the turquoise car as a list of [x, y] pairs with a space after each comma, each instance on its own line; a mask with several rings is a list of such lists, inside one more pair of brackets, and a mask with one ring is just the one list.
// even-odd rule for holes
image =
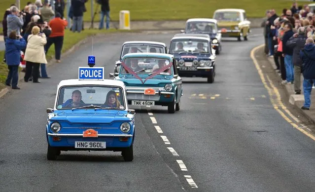
[[213, 83], [215, 54], [207, 34], [176, 34], [171, 39], [170, 54], [177, 62], [180, 77], [207, 77]]

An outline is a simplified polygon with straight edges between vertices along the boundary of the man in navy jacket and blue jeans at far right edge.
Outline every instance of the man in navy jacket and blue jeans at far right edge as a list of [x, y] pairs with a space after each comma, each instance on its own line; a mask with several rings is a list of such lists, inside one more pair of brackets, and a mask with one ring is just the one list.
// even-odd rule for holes
[[315, 85], [315, 45], [313, 38], [306, 39], [304, 50], [300, 51], [300, 57], [303, 61], [303, 91], [304, 106], [302, 110], [309, 110], [311, 106], [311, 91], [313, 84]]

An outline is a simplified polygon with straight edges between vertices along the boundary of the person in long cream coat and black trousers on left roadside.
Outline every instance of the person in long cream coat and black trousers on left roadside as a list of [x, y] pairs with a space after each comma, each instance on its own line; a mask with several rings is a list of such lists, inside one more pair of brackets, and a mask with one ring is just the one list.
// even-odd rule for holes
[[32, 35], [28, 37], [24, 60], [26, 61], [24, 81], [28, 82], [33, 74], [33, 82], [38, 83], [39, 66], [41, 63], [47, 64], [44, 45], [47, 43], [44, 33], [39, 34], [40, 29], [34, 26]]

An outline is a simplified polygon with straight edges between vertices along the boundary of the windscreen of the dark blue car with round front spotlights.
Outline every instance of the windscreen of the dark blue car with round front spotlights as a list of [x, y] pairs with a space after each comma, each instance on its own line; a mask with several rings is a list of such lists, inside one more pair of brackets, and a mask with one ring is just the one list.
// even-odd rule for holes
[[209, 42], [202, 39], [174, 39], [171, 42], [170, 54], [173, 53], [209, 53]]

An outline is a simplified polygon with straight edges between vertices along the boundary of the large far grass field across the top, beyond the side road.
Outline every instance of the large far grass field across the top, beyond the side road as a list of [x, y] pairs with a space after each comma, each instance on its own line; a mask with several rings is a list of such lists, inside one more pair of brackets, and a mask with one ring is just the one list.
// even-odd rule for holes
[[[23, 8], [29, 0], [20, 0]], [[66, 1], [66, 0], [65, 0]], [[87, 12], [84, 21], [91, 21], [91, 1], [86, 5]], [[94, 1], [94, 10], [97, 11], [97, 3]], [[1, 0], [0, 18], [6, 7], [15, 0]], [[110, 0], [110, 15], [113, 21], [119, 20], [120, 10], [129, 10], [131, 20], [186, 20], [193, 17], [211, 18], [213, 11], [219, 8], [242, 8], [245, 9], [247, 17], [264, 17], [267, 9], [275, 8], [278, 13], [283, 8], [290, 8], [292, 0]], [[299, 5], [310, 3], [306, 0], [298, 0]], [[101, 7], [98, 6], [98, 11]], [[66, 11], [65, 11], [66, 13]], [[66, 14], [65, 14], [66, 15]], [[95, 21], [100, 20], [97, 14]]]

